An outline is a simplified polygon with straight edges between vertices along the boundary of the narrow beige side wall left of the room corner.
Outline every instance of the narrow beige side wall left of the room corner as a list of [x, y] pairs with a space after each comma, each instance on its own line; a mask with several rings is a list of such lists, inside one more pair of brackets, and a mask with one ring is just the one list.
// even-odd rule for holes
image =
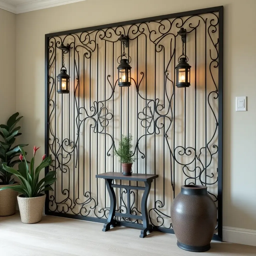
[[0, 123], [15, 113], [16, 15], [0, 9]]

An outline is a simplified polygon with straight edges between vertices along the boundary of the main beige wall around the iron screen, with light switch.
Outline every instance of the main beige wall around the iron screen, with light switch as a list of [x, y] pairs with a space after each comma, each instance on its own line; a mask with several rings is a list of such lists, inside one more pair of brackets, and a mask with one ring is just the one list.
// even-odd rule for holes
[[[130, 0], [125, 8], [120, 3], [87, 0], [17, 15], [16, 110], [25, 116], [23, 140], [42, 146], [43, 153], [45, 34], [224, 5], [223, 225], [256, 230], [256, 2]], [[248, 96], [247, 112], [235, 111], [236, 96]]]

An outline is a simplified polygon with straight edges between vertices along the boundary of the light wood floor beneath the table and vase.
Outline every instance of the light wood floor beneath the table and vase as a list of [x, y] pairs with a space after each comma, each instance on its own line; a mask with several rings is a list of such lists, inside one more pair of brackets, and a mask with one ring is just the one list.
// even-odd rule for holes
[[102, 232], [103, 224], [43, 216], [37, 224], [23, 224], [18, 214], [0, 217], [1, 256], [225, 256], [256, 255], [256, 247], [212, 242], [208, 252], [194, 253], [176, 246], [172, 234], [116, 227]]

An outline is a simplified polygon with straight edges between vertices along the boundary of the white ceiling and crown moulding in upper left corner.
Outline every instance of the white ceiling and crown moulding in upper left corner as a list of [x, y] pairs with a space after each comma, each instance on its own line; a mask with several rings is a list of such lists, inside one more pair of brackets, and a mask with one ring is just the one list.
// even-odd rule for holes
[[0, 8], [18, 14], [80, 1], [85, 0], [0, 0]]

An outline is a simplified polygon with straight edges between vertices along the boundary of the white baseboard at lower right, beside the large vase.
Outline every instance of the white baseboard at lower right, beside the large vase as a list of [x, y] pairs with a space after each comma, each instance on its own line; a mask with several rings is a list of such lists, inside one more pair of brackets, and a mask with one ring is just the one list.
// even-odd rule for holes
[[223, 227], [223, 241], [256, 246], [256, 230]]

